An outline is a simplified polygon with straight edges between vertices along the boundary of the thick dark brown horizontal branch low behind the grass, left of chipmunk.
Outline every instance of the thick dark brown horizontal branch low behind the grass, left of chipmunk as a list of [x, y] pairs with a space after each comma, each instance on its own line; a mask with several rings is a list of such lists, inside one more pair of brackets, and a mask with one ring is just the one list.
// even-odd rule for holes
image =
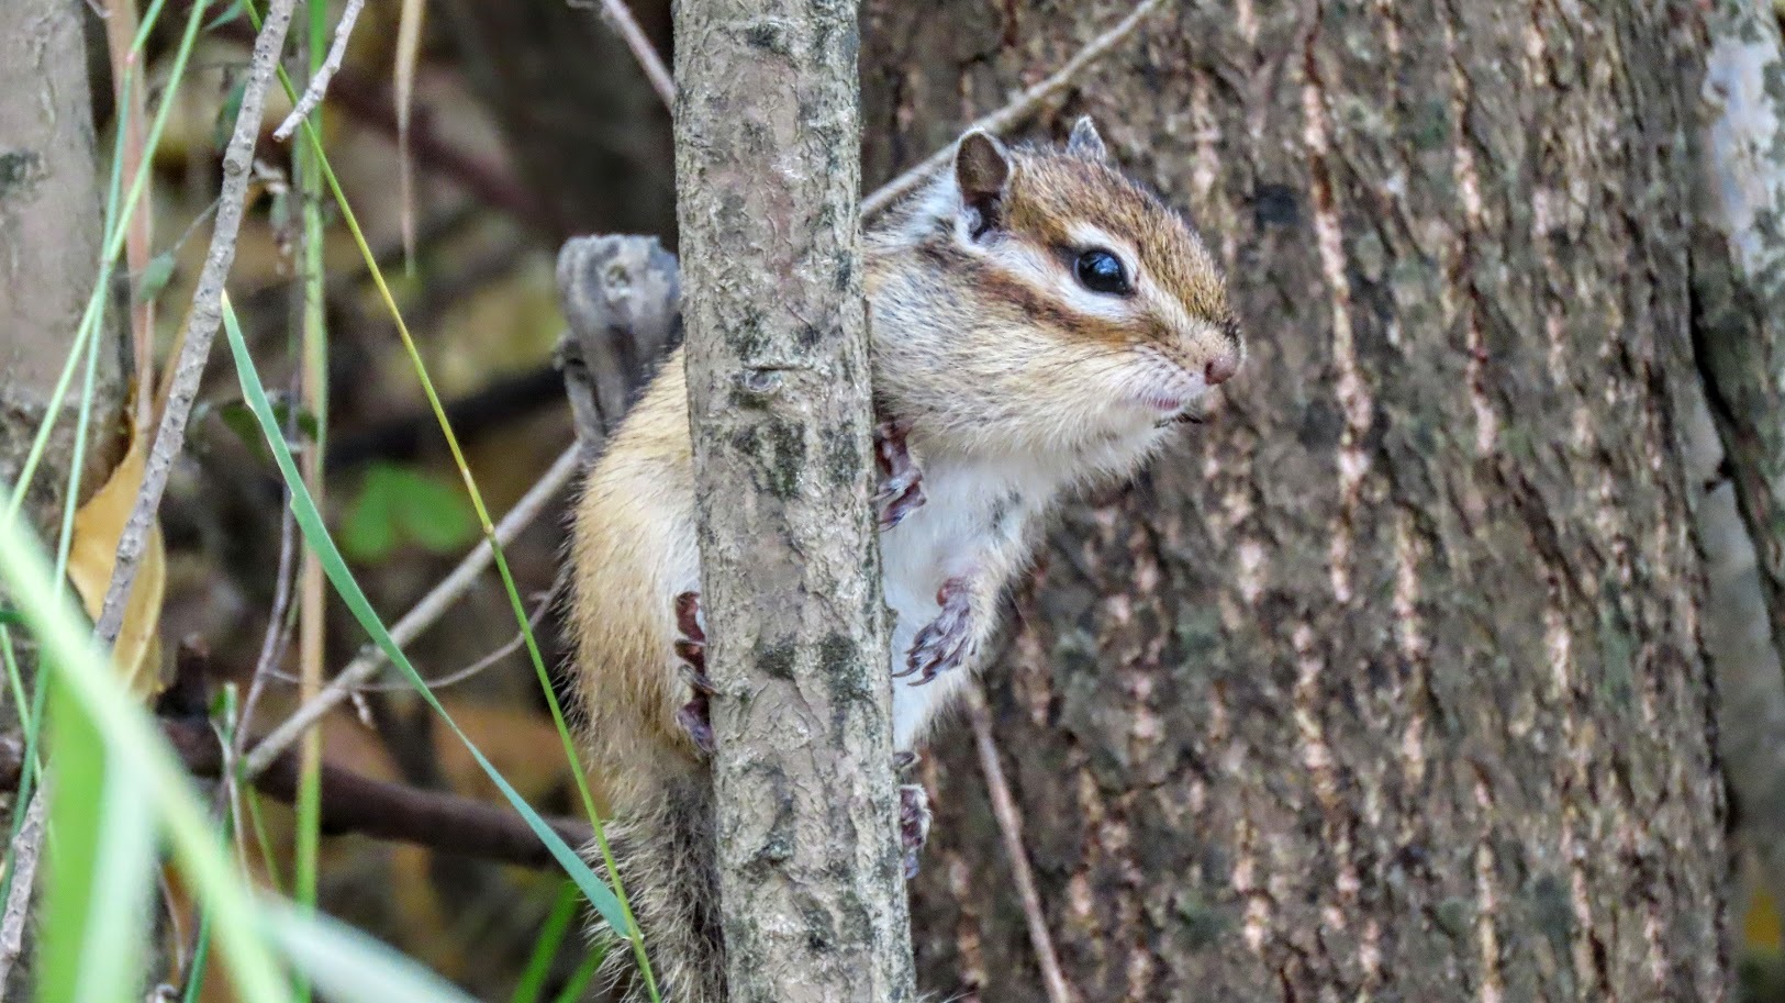
[[[193, 776], [218, 778], [221, 775], [225, 750], [209, 721], [162, 719], [161, 732]], [[18, 789], [23, 767], [20, 748], [21, 744], [16, 741], [0, 739], [0, 791]], [[293, 803], [298, 794], [296, 753], [277, 757], [266, 773], [255, 778], [253, 785], [270, 798]], [[321, 776], [321, 826], [330, 835], [353, 832], [523, 867], [557, 867], [552, 851], [507, 807], [457, 794], [421, 791], [403, 783], [387, 783], [327, 764]], [[591, 839], [589, 826], [580, 821], [546, 819], [546, 823], [571, 846], [582, 846]], [[29, 819], [27, 825], [30, 825]], [[25, 876], [20, 873], [14, 878], [12, 898], [18, 898], [16, 889], [30, 887], [30, 882], [20, 882]], [[0, 964], [4, 962], [5, 958], [0, 957]]]

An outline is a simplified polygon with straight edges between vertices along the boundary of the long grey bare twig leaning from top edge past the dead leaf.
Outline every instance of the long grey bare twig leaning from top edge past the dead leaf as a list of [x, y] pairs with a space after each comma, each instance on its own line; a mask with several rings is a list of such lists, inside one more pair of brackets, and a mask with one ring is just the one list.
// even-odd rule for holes
[[211, 230], [211, 250], [205, 253], [205, 266], [198, 273], [198, 287], [193, 291], [193, 307], [186, 316], [186, 330], [180, 336], [180, 357], [175, 361], [168, 384], [166, 409], [161, 414], [161, 427], [155, 430], [155, 444], [150, 448], [148, 462], [143, 469], [143, 487], [137, 491], [130, 519], [118, 537], [118, 560], [111, 584], [105, 589], [105, 605], [100, 609], [100, 621], [95, 628], [100, 642], [111, 648], [123, 628], [125, 601], [130, 598], [130, 585], [136, 584], [136, 571], [143, 560], [143, 548], [148, 543], [148, 530], [161, 509], [161, 494], [168, 487], [168, 475], [173, 460], [178, 459], [186, 444], [186, 421], [193, 412], [193, 398], [198, 396], [198, 384], [205, 373], [205, 361], [211, 357], [211, 343], [216, 341], [218, 325], [223, 318], [223, 280], [230, 264], [236, 262], [236, 234], [241, 230], [243, 202], [248, 195], [248, 178], [253, 170], [253, 145], [261, 134], [261, 111], [266, 105], [266, 87], [278, 66], [278, 54], [286, 46], [286, 29], [291, 25], [293, 0], [271, 0], [261, 34], [253, 39], [253, 57], [248, 62], [248, 80], [243, 86], [241, 112], [236, 116], [236, 130], [230, 134], [223, 152], [223, 191], [218, 196], [218, 218]]

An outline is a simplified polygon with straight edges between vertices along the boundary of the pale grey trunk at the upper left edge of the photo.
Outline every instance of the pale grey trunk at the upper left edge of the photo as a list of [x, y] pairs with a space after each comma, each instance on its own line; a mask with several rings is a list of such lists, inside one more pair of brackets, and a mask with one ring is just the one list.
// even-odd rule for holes
[[[0, 4], [0, 482], [16, 484], [68, 359], [100, 259], [100, 205], [80, 5]], [[121, 343], [100, 337], [95, 428], [111, 432]], [[77, 380], [62, 412], [73, 416]], [[73, 421], [50, 441], [29, 512], [54, 528], [68, 487]], [[91, 455], [91, 453], [89, 453]], [[104, 469], [104, 457], [89, 469]], [[89, 487], [93, 484], [89, 482]]]

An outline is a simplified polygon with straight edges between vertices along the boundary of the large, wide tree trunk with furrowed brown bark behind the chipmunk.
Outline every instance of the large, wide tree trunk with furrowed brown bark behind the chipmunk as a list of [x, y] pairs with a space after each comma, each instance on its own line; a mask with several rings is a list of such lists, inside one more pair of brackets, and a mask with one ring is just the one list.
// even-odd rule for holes
[[[876, 0], [871, 177], [1126, 7]], [[1724, 998], [1698, 18], [1185, 2], [1080, 87], [1251, 341], [1210, 425], [1069, 512], [991, 675], [1080, 999]], [[921, 982], [1042, 999], [964, 739]]]

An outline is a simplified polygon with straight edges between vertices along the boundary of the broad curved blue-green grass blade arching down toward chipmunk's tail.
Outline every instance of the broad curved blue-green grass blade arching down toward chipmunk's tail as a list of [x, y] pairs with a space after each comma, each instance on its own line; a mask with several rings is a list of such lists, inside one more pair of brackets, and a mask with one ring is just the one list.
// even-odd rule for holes
[[241, 321], [236, 319], [236, 309], [223, 296], [223, 332], [228, 336], [230, 353], [236, 357], [236, 377], [241, 382], [243, 398], [248, 402], [248, 410], [253, 412], [255, 421], [261, 425], [261, 434], [266, 437], [268, 448], [273, 452], [273, 460], [278, 464], [280, 475], [286, 478], [286, 489], [291, 493], [291, 509], [296, 516], [298, 528], [303, 532], [305, 543], [316, 551], [323, 564], [323, 571], [334, 584], [336, 593], [346, 603], [353, 619], [359, 621], [361, 628], [371, 635], [371, 641], [384, 651], [384, 655], [403, 673], [405, 678], [416, 687], [416, 692], [439, 714], [441, 721], [452, 728], [453, 735], [464, 744], [471, 758], [477, 760], [478, 767], [489, 776], [489, 780], [502, 791], [514, 810], [521, 814], [527, 826], [534, 830], [534, 835], [544, 842], [552, 857], [564, 867], [582, 894], [589, 898], [589, 905], [602, 914], [603, 919], [614, 930], [635, 932], [628, 924], [627, 914], [619, 908], [619, 899], [614, 892], [594, 876], [594, 871], [582, 860], [582, 857], [573, 851], [552, 826], [546, 825], [539, 812], [527, 803], [525, 798], [507, 782], [505, 776], [484, 757], [484, 751], [477, 748], [469, 735], [459, 728], [452, 714], [441, 705], [439, 698], [428, 689], [421, 673], [409, 664], [409, 657], [403, 650], [396, 646], [391, 639], [391, 632], [386, 630], [384, 621], [378, 619], [377, 610], [371, 609], [371, 600], [361, 591], [359, 582], [348, 569], [346, 560], [341, 557], [339, 548], [336, 548], [334, 539], [328, 535], [327, 525], [323, 525], [321, 512], [316, 510], [316, 502], [311, 498], [309, 489], [303, 487], [303, 478], [298, 475], [298, 464], [291, 457], [291, 448], [286, 446], [286, 437], [278, 428], [278, 418], [273, 414], [273, 405], [266, 398], [266, 385], [261, 382], [261, 373], [253, 366], [253, 357], [248, 353], [248, 343], [241, 334]]

